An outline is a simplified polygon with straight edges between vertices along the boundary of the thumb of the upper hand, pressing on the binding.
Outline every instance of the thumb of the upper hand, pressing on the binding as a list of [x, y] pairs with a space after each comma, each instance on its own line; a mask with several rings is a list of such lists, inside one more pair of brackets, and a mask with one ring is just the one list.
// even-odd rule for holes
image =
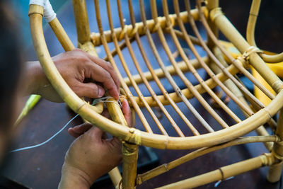
[[93, 83], [78, 83], [78, 90], [74, 88], [75, 93], [79, 97], [100, 98], [104, 95], [104, 88]]

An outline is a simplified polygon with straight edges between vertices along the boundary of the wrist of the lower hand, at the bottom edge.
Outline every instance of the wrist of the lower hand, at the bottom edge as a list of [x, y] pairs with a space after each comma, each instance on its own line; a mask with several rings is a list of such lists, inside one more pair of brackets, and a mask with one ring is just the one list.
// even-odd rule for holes
[[93, 182], [87, 173], [64, 162], [58, 188], [90, 188]]

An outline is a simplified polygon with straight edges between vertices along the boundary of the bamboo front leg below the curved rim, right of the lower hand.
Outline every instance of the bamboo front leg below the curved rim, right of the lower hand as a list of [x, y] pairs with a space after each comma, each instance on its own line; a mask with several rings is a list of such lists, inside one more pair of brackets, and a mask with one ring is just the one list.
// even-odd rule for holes
[[122, 171], [122, 188], [136, 188], [137, 178], [137, 158], [139, 146], [122, 142], [123, 171]]

